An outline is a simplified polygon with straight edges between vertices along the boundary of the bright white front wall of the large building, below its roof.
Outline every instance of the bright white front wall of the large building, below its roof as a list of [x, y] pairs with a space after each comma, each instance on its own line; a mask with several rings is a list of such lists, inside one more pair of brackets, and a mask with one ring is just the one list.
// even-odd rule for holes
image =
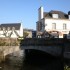
[[[70, 31], [70, 21], [69, 20], [63, 20], [63, 19], [45, 19], [45, 30], [50, 31], [52, 30], [52, 23], [56, 23], [56, 30], [58, 31]], [[63, 30], [63, 24], [67, 24], [67, 29]]]

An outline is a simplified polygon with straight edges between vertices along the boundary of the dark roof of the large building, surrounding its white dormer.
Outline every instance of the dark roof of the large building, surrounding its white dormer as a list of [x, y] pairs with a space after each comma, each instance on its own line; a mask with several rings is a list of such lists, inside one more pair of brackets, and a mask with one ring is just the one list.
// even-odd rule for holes
[[58, 14], [60, 19], [68, 19], [68, 14], [62, 11], [51, 10], [50, 12], [44, 12], [44, 18], [52, 18], [52, 14]]

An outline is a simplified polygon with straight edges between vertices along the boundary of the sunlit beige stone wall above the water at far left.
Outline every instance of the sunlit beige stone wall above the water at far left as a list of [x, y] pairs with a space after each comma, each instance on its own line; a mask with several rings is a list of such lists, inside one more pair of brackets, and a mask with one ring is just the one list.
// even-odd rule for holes
[[19, 50], [19, 46], [0, 46], [0, 60]]

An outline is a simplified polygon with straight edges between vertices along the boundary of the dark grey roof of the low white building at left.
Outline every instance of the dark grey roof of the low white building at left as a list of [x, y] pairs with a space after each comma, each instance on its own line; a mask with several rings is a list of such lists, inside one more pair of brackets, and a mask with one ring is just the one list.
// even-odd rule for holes
[[1, 24], [0, 28], [1, 28], [1, 30], [3, 30], [3, 27], [5, 27], [5, 29], [10, 27], [10, 30], [12, 30], [12, 28], [14, 27], [15, 30], [19, 30], [20, 26], [21, 26], [21, 23], [5, 23], [5, 24]]

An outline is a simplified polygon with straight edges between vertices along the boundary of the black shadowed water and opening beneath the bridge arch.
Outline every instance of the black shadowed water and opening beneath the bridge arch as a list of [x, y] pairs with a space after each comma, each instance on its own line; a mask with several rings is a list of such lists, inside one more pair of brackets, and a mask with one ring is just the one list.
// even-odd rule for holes
[[23, 61], [21, 70], [62, 70], [62, 65], [60, 58], [33, 50]]

